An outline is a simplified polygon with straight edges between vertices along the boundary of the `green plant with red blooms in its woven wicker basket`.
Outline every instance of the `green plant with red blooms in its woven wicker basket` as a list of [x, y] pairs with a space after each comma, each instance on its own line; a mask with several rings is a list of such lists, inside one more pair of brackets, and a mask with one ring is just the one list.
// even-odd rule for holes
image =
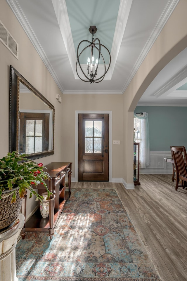
[[48, 200], [52, 194], [45, 180], [51, 177], [43, 171], [43, 164], [27, 159], [29, 155], [20, 154], [18, 151], [8, 152], [0, 159], [0, 230], [9, 226], [20, 214], [22, 198], [26, 189], [30, 196], [34, 194], [36, 200], [42, 200], [34, 188], [43, 184], [48, 193]]

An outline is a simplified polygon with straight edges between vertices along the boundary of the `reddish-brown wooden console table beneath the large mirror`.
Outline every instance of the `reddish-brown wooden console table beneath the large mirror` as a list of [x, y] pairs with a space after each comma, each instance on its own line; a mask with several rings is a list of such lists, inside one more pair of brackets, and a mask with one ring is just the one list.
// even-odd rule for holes
[[[31, 216], [31, 218], [24, 224], [20, 233], [22, 238], [25, 238], [26, 232], [49, 232], [52, 239], [54, 235], [54, 227], [58, 218], [64, 208], [64, 204], [71, 195], [71, 164], [72, 162], [52, 162], [46, 165], [46, 171], [52, 178], [51, 181], [46, 180], [47, 187], [52, 195], [49, 200], [49, 217], [42, 218], [40, 213], [40, 200], [38, 202], [38, 209]], [[68, 190], [65, 190], [65, 175], [68, 174]], [[38, 193], [41, 195], [46, 192], [43, 185], [37, 185]], [[26, 214], [27, 194], [25, 194], [22, 202], [21, 212]]]

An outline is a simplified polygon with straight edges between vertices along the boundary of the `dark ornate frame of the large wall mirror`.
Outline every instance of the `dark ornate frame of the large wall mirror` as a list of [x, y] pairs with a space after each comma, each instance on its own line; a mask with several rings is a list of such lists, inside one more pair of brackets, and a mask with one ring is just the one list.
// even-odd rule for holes
[[55, 125], [55, 107], [37, 91], [12, 65], [10, 66], [10, 96], [9, 96], [9, 152], [17, 151], [19, 137], [19, 98], [20, 82], [24, 84], [32, 93], [40, 98], [51, 110], [53, 110], [53, 130], [52, 130], [52, 150], [28, 153], [28, 159], [37, 159], [54, 154], [54, 125]]

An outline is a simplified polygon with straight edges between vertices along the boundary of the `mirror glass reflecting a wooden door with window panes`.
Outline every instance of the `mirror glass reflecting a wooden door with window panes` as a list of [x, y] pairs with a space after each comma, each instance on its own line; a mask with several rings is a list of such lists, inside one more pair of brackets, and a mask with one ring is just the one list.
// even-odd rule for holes
[[51, 150], [53, 111], [22, 83], [20, 83], [19, 111], [20, 152], [37, 153]]

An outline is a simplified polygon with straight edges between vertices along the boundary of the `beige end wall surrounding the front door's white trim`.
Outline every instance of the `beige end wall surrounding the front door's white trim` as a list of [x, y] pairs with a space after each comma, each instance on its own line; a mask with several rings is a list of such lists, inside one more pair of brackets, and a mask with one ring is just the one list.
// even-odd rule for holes
[[62, 126], [64, 129], [64, 134], [61, 138], [61, 141], [63, 160], [73, 162], [72, 176], [75, 176], [75, 111], [111, 110], [112, 140], [121, 141], [120, 145], [112, 144], [112, 178], [121, 178], [123, 171], [123, 96], [99, 94], [63, 94], [62, 104]]

